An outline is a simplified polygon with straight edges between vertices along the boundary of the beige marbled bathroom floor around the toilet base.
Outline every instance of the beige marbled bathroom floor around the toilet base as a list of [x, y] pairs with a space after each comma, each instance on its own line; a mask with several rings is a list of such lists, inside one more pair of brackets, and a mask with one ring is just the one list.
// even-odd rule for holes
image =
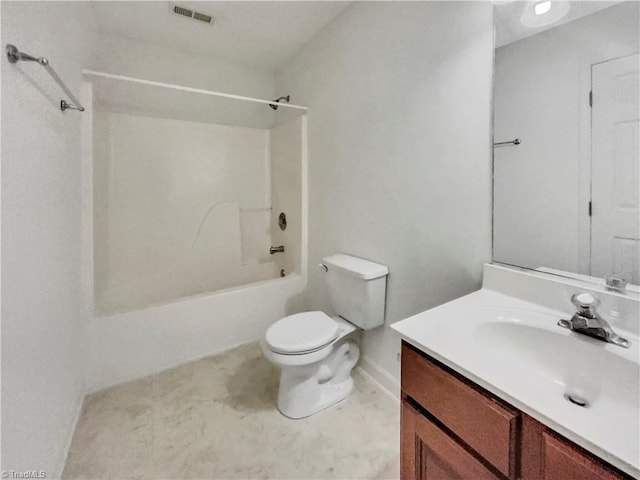
[[400, 406], [361, 374], [345, 401], [290, 420], [249, 344], [86, 398], [63, 477], [397, 479]]

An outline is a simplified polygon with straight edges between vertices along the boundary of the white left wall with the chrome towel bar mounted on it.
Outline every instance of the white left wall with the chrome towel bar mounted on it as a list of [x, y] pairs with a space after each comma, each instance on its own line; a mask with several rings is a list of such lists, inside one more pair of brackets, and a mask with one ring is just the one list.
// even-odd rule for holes
[[[80, 92], [95, 23], [76, 2], [2, 2], [2, 45]], [[80, 119], [33, 63], [2, 59], [2, 470], [59, 478], [84, 394]]]

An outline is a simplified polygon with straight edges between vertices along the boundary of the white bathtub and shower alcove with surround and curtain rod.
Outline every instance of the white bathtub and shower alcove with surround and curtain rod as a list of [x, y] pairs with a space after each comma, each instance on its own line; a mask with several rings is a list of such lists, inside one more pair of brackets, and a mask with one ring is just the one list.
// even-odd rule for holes
[[306, 108], [85, 71], [89, 390], [260, 338], [306, 283]]

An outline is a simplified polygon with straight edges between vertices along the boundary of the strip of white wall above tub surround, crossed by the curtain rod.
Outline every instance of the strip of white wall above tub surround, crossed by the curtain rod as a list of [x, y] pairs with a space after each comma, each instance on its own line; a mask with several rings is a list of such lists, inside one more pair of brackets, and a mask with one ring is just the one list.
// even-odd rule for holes
[[[110, 111], [192, 122], [269, 128], [276, 112], [268, 105], [123, 81], [121, 77], [200, 88], [268, 100], [274, 74], [154, 45], [105, 37], [98, 75], [88, 74], [98, 104]], [[101, 77], [101, 73], [115, 78]], [[283, 110], [283, 109], [280, 109]]]

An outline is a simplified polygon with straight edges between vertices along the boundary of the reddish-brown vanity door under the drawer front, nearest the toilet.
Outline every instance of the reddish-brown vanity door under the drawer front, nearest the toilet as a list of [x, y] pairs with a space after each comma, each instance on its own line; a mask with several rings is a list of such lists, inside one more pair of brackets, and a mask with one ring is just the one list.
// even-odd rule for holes
[[402, 403], [402, 480], [497, 480], [472, 454], [406, 401]]

